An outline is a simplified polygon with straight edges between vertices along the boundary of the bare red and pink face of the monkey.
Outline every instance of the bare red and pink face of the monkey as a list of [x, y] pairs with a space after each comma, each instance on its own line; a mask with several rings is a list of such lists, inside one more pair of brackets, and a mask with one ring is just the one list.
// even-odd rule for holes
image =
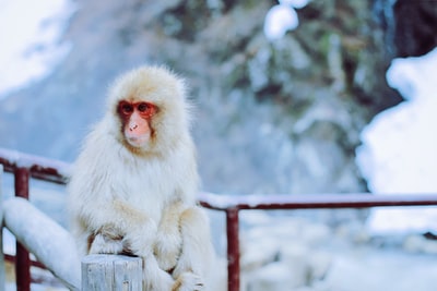
[[121, 100], [117, 112], [121, 119], [122, 134], [133, 147], [144, 147], [153, 135], [152, 119], [157, 107], [150, 102]]

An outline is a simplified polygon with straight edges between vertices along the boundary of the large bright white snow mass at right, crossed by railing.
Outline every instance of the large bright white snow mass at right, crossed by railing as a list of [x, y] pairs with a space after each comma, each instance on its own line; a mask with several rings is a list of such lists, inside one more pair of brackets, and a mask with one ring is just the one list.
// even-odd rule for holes
[[[363, 131], [357, 165], [371, 192], [437, 192], [437, 48], [423, 57], [394, 59], [389, 85], [405, 101], [379, 113]], [[374, 209], [373, 233], [437, 232], [435, 207]]]

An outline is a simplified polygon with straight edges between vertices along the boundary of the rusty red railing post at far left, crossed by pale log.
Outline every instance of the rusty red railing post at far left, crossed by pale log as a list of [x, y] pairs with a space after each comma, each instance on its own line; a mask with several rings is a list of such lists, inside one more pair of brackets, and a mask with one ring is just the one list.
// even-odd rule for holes
[[[15, 196], [28, 199], [29, 171], [16, 168], [14, 171]], [[16, 291], [31, 291], [31, 258], [27, 250], [16, 242], [15, 254]]]

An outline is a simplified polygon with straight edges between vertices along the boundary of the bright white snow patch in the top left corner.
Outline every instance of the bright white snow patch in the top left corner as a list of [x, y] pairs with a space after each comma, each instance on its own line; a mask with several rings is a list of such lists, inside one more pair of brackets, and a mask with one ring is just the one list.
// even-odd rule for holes
[[69, 0], [2, 1], [0, 98], [47, 76], [68, 54], [61, 35], [73, 12]]

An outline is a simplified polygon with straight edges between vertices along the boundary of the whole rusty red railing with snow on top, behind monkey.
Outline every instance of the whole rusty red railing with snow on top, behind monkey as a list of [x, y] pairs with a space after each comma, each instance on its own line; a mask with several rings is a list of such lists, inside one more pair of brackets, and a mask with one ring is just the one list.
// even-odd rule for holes
[[[21, 154], [0, 148], [0, 163], [7, 172], [14, 175], [15, 195], [28, 198], [31, 178], [51, 183], [66, 184], [69, 177], [68, 163]], [[203, 207], [225, 211], [227, 235], [228, 291], [239, 290], [239, 211], [250, 209], [320, 209], [320, 208], [369, 208], [379, 206], [430, 206], [437, 205], [437, 194], [421, 195], [371, 195], [356, 194], [317, 194], [317, 195], [214, 195], [201, 193]], [[15, 262], [17, 291], [29, 291], [29, 267], [44, 267], [29, 259], [28, 252], [17, 243], [15, 257], [5, 256]]]

